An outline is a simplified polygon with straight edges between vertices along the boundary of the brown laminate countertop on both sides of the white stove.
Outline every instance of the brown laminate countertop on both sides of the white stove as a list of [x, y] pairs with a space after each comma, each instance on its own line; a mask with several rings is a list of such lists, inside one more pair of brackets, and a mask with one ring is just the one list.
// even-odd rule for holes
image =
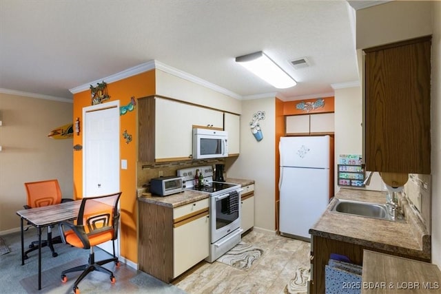
[[[226, 178], [225, 182], [238, 184], [241, 187], [254, 184], [254, 180], [244, 180], [237, 178]], [[142, 202], [147, 202], [151, 204], [161, 205], [164, 207], [172, 207], [172, 208], [180, 207], [185, 204], [203, 200], [209, 197], [209, 193], [207, 192], [191, 191], [191, 190], [185, 190], [181, 193], [176, 193], [169, 196], [154, 196], [151, 195], [150, 193], [147, 194], [148, 195], [139, 196], [138, 200]]]

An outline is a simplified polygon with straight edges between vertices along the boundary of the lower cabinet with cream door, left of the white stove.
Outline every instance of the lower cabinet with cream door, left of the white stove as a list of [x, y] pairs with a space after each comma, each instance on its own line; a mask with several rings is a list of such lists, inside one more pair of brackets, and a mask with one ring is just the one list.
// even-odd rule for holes
[[139, 202], [139, 269], [163, 282], [209, 254], [208, 199], [173, 209]]

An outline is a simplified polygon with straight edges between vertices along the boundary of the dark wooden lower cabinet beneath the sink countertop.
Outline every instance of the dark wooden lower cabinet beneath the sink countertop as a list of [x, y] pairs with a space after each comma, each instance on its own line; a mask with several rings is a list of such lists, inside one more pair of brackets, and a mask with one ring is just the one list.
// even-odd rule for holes
[[345, 255], [349, 258], [349, 260], [351, 260], [353, 264], [362, 265], [363, 250], [365, 249], [380, 253], [387, 253], [389, 255], [401, 256], [403, 258], [430, 262], [430, 260], [415, 258], [408, 255], [400, 255], [389, 251], [374, 249], [368, 246], [362, 246], [349, 242], [331, 240], [328, 238], [311, 235], [311, 282], [309, 284], [310, 293], [325, 293], [325, 266], [328, 264], [331, 253]]

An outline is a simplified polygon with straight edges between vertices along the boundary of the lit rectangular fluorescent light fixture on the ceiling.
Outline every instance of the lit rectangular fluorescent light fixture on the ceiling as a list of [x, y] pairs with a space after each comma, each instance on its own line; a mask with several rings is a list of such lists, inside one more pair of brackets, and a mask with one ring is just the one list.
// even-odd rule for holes
[[278, 89], [297, 85], [294, 78], [291, 78], [262, 51], [236, 57], [236, 62]]

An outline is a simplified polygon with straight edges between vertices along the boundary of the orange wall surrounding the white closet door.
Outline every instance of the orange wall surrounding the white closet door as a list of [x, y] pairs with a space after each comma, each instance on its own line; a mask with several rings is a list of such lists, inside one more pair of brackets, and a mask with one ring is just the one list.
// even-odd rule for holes
[[[143, 72], [136, 76], [124, 78], [121, 81], [107, 84], [107, 92], [110, 99], [105, 101], [119, 100], [119, 105], [124, 106], [130, 103], [130, 98], [142, 98], [145, 96], [152, 96], [156, 92], [155, 87], [155, 71]], [[105, 103], [104, 102], [104, 103]], [[91, 105], [90, 90], [74, 94], [74, 121], [80, 118], [83, 122], [83, 107]], [[136, 235], [136, 154], [138, 154], [138, 132], [137, 132], [137, 109], [132, 112], [127, 112], [121, 118], [122, 134], [127, 130], [128, 134], [132, 135], [132, 142], [127, 144], [121, 135], [120, 140], [120, 156], [127, 159], [127, 169], [120, 170], [120, 187], [123, 191], [121, 195], [121, 256], [131, 260], [134, 263], [138, 262], [138, 242]], [[81, 125], [81, 132], [82, 132]], [[74, 145], [83, 145], [83, 136], [74, 135]], [[83, 151], [74, 151], [74, 198], [83, 198]]]

